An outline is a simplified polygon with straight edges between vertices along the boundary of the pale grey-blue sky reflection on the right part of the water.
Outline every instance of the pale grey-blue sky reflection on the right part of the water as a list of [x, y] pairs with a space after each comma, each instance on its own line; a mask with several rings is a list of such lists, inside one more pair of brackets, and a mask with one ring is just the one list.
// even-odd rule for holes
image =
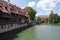
[[35, 26], [37, 40], [60, 40], [60, 27], [50, 25]]

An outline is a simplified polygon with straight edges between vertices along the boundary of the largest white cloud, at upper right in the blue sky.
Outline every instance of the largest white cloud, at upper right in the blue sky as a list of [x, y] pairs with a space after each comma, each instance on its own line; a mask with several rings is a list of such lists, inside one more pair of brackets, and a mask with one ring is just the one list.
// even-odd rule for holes
[[43, 9], [44, 11], [50, 11], [53, 10], [59, 2], [60, 0], [40, 0], [37, 3], [37, 7]]

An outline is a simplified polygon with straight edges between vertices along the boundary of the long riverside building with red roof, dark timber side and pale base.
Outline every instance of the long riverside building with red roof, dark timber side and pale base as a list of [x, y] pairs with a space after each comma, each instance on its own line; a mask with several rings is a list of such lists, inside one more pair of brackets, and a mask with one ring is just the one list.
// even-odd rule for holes
[[0, 33], [28, 23], [28, 12], [9, 2], [0, 0]]

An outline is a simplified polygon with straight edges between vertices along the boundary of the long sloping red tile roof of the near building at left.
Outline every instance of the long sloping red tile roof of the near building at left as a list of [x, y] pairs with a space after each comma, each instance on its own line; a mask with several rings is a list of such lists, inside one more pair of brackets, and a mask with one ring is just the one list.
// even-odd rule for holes
[[21, 9], [17, 7], [16, 5], [13, 5], [11, 3], [8, 3], [4, 0], [0, 0], [0, 10], [5, 13], [16, 13], [20, 15], [28, 15], [28, 12], [25, 11], [24, 9]]

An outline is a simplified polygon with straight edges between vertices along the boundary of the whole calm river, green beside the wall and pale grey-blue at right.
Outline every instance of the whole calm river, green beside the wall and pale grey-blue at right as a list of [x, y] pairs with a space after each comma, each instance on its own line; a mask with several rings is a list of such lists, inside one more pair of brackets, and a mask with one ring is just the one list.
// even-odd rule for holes
[[35, 25], [18, 33], [7, 33], [0, 40], [60, 40], [60, 25]]

